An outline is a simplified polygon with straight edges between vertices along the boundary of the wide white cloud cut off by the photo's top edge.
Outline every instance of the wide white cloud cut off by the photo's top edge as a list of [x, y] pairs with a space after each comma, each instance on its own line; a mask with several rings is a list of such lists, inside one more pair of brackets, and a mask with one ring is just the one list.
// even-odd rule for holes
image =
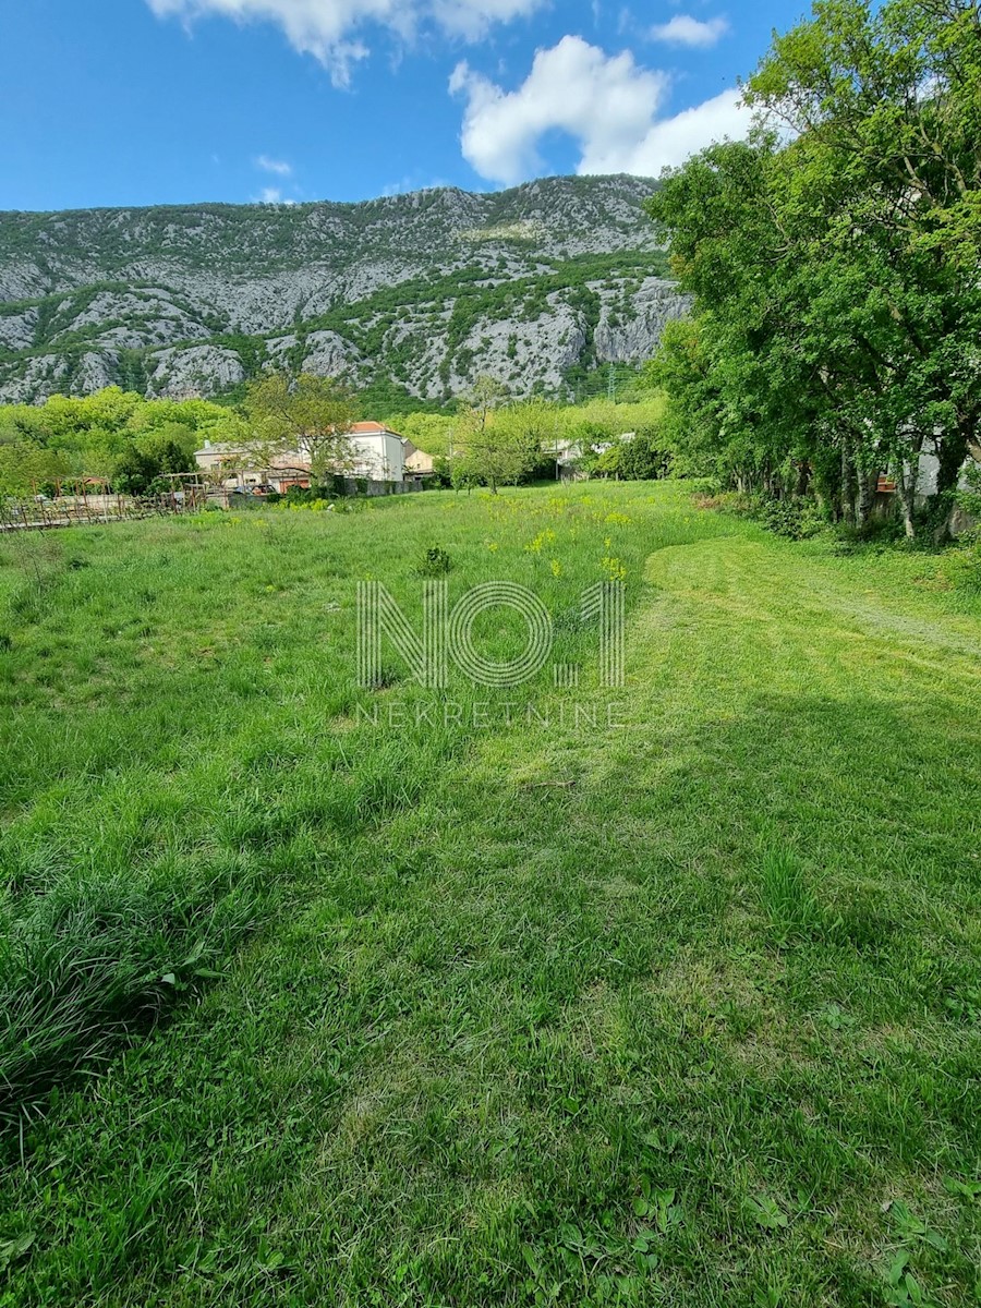
[[146, 0], [161, 18], [220, 16], [237, 22], [275, 22], [301, 54], [330, 69], [339, 86], [369, 48], [357, 35], [370, 25], [411, 39], [426, 24], [477, 41], [496, 22], [509, 22], [540, 9], [548, 0]]

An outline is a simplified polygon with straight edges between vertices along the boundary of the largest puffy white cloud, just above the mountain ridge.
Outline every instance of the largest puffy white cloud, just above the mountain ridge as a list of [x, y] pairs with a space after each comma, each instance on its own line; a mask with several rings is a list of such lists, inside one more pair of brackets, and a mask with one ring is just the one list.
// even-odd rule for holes
[[633, 55], [606, 55], [581, 37], [539, 50], [518, 90], [504, 92], [467, 63], [450, 92], [464, 95], [464, 158], [494, 182], [514, 184], [543, 170], [539, 143], [562, 131], [579, 143], [577, 171], [657, 177], [714, 140], [744, 136], [749, 115], [738, 90], [659, 118], [670, 77], [641, 68]]

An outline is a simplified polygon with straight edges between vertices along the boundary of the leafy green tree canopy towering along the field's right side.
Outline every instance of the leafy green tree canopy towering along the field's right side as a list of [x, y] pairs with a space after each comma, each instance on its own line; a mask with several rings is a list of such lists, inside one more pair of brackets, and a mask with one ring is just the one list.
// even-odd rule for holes
[[695, 294], [653, 377], [680, 462], [863, 521], [878, 472], [943, 522], [981, 419], [981, 24], [965, 0], [821, 0], [747, 86], [757, 127], [650, 201]]

